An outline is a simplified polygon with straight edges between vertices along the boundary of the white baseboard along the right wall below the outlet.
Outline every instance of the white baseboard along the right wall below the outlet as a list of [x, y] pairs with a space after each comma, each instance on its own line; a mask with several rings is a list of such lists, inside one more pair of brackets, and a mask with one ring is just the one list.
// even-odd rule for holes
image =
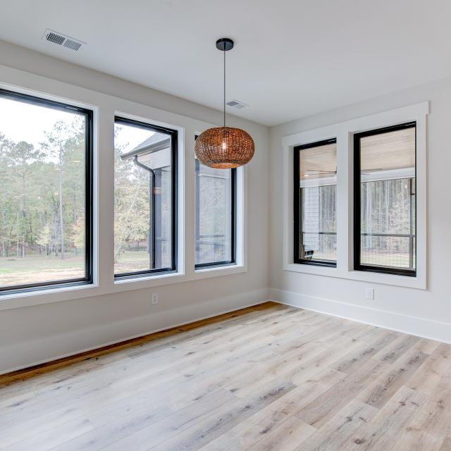
[[334, 301], [302, 295], [300, 293], [271, 289], [270, 299], [273, 302], [316, 311], [343, 319], [378, 326], [397, 332], [409, 333], [421, 338], [451, 343], [451, 324], [440, 321], [407, 316], [393, 311], [371, 309], [346, 302]]

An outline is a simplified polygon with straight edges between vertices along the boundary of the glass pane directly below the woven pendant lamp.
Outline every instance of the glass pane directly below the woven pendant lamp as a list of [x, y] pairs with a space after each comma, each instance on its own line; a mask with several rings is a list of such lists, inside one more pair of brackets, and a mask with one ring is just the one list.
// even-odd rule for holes
[[196, 160], [196, 264], [231, 262], [232, 170]]

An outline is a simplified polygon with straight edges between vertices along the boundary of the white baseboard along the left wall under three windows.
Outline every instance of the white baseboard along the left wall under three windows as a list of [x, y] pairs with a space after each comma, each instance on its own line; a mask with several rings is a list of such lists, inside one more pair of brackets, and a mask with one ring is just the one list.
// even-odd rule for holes
[[[194, 323], [194, 321], [201, 321], [202, 319], [212, 318], [221, 314], [230, 313], [252, 307], [254, 305], [263, 304], [267, 302], [268, 290], [255, 290], [251, 292], [244, 292], [240, 295], [230, 297], [223, 297], [220, 299], [211, 299], [209, 302], [202, 302], [202, 304], [192, 304], [180, 309], [172, 309], [161, 311], [153, 314], [152, 318], [147, 319], [141, 317], [140, 319], [121, 321], [120, 323], [112, 323], [108, 325], [98, 326], [91, 330], [75, 331], [65, 335], [49, 336], [41, 340], [33, 340], [33, 342], [23, 342], [20, 345], [15, 345], [11, 349], [3, 348], [0, 352], [0, 375], [4, 373], [11, 373], [11, 371], [18, 371], [20, 369], [29, 368], [30, 366], [45, 364], [57, 359], [70, 357], [81, 352], [93, 351], [99, 347], [115, 345], [126, 340], [139, 338], [150, 333], [160, 332], [173, 327], [185, 326], [185, 324]], [[208, 311], [209, 310], [209, 311]], [[143, 324], [153, 324], [149, 328], [145, 328]], [[158, 326], [156, 326], [158, 325]], [[138, 333], [130, 335], [130, 330], [137, 330]], [[107, 337], [116, 335], [117, 338], [109, 340]], [[83, 338], [90, 337], [89, 346], [83, 346], [81, 343], [85, 342]], [[44, 359], [35, 360], [32, 358], [23, 357], [20, 364], [11, 365], [13, 359], [17, 359], [18, 355], [38, 355], [44, 349], [49, 349], [54, 343], [58, 343], [59, 349], [67, 348], [68, 352], [55, 352]], [[80, 343], [80, 345], [77, 345]], [[47, 347], [46, 347], [47, 346]]]

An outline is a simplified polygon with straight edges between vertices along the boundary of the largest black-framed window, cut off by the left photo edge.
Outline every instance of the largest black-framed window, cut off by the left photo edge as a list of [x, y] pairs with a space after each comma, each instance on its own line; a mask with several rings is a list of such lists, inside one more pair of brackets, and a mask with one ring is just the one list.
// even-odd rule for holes
[[92, 111], [0, 89], [0, 292], [92, 282]]

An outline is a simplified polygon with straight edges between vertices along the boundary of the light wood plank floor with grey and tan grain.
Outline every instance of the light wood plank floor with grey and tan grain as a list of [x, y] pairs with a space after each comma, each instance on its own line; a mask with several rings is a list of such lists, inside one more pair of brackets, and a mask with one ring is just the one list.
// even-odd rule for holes
[[262, 304], [0, 388], [1, 450], [451, 451], [450, 345]]

